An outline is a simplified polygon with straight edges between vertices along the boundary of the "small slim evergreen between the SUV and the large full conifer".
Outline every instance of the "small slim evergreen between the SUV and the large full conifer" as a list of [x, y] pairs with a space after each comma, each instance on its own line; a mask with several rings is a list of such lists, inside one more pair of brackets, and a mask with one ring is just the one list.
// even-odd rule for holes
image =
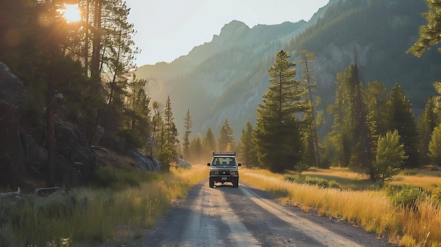
[[253, 127], [247, 122], [246, 129], [242, 129], [242, 137], [240, 137], [240, 160], [245, 167], [253, 167], [257, 165], [256, 153], [254, 152]]

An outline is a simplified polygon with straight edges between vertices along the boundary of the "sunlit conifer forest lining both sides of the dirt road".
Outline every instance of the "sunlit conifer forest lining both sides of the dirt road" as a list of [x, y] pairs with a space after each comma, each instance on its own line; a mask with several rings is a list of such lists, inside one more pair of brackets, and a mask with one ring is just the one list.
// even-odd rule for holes
[[[135, 28], [128, 23], [130, 9], [125, 2], [82, 0], [79, 6], [84, 15], [77, 22], [64, 17], [66, 4], [69, 1], [1, 2], [0, 61], [20, 78], [26, 91], [23, 110], [13, 118], [17, 122], [5, 118], [0, 122], [18, 126], [16, 134], [2, 135], [0, 160], [7, 164], [0, 167], [2, 187], [21, 185], [32, 176], [43, 179], [46, 186], [66, 182], [59, 175], [75, 168], [58, 163], [60, 156], [66, 160], [69, 156], [58, 148], [60, 122], [77, 129], [90, 147], [111, 148], [118, 137], [123, 140], [123, 150], [144, 151], [159, 160], [164, 171], [179, 156], [190, 163], [204, 163], [213, 150], [237, 151], [246, 167], [273, 172], [349, 167], [372, 181], [388, 179], [407, 168], [441, 165], [439, 96], [427, 99], [416, 119], [412, 102], [399, 83], [387, 90], [383, 82], [362, 80], [357, 51], [354, 61], [337, 74], [335, 102], [321, 104], [316, 91], [316, 56], [307, 48], [314, 49], [310, 41], [325, 32], [307, 31], [308, 35], [287, 47], [297, 49], [298, 65], [280, 50], [273, 54], [271, 67], [259, 71], [269, 75], [270, 86], [256, 108], [256, 125], [247, 122], [240, 139], [235, 139], [228, 119], [221, 129], [209, 128], [203, 136], [191, 138], [192, 133], [200, 133], [192, 129], [192, 109], [187, 109], [185, 132], [180, 135], [172, 106], [182, 103], [170, 98], [151, 101], [147, 90], [151, 80], [133, 74], [134, 55], [139, 51], [132, 41]], [[435, 12], [438, 7], [428, 2], [428, 9]], [[332, 9], [328, 15], [333, 15]], [[424, 16], [428, 23], [438, 18]], [[325, 25], [325, 19], [316, 30]], [[409, 44], [409, 53], [421, 57], [437, 44], [431, 37], [440, 30], [428, 27], [421, 27], [418, 41]], [[388, 40], [385, 37], [383, 42]], [[302, 71], [302, 80], [294, 80], [297, 71]], [[433, 87], [441, 91], [440, 82], [433, 82]], [[3, 103], [4, 113], [8, 107]], [[325, 122], [325, 112], [333, 116], [333, 124], [323, 137], [318, 129]], [[23, 146], [19, 140], [27, 135], [44, 150], [37, 165], [26, 163], [23, 153], [17, 151]], [[87, 184], [87, 179], [75, 185]]]

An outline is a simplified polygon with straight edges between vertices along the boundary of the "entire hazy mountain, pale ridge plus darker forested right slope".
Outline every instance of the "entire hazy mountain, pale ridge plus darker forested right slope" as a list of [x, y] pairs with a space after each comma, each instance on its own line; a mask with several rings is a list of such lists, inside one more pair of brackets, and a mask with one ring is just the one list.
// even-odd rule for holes
[[[317, 93], [321, 110], [334, 103], [335, 78], [358, 61], [364, 82], [380, 81], [391, 89], [398, 82], [419, 113], [432, 84], [441, 77], [441, 56], [436, 49], [422, 58], [406, 50], [418, 37], [426, 20], [423, 0], [331, 0], [308, 22], [248, 27], [233, 20], [211, 42], [194, 47], [187, 56], [172, 63], [145, 65], [137, 78], [151, 80], [153, 101], [164, 103], [170, 96], [178, 131], [190, 109], [192, 137], [211, 127], [217, 135], [228, 119], [235, 137], [240, 138], [247, 120], [255, 122], [255, 109], [268, 89], [268, 68], [280, 49], [290, 52], [292, 61], [306, 49], [316, 54]], [[297, 65], [297, 76], [301, 66]], [[333, 122], [326, 115], [321, 134]]]

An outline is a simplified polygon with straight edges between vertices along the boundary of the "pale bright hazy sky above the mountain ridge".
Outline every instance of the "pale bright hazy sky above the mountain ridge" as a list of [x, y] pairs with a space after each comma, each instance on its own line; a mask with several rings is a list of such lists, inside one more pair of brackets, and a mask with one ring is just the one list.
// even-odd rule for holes
[[126, 0], [135, 24], [138, 66], [187, 55], [211, 42], [232, 20], [250, 28], [258, 24], [309, 20], [329, 0]]

